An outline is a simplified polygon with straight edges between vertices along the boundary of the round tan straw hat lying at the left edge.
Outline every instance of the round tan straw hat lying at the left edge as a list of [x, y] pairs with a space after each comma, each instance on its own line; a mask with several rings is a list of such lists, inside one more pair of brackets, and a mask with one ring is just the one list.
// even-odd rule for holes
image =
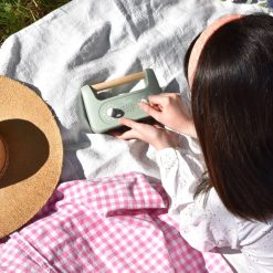
[[59, 127], [32, 90], [0, 76], [0, 238], [27, 223], [52, 195], [62, 169]]

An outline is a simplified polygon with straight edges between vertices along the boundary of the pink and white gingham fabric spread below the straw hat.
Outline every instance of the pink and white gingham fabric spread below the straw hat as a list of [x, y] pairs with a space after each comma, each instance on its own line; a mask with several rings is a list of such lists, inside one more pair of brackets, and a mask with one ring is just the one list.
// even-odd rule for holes
[[160, 182], [141, 174], [61, 183], [0, 243], [0, 272], [232, 272], [192, 249], [167, 211]]

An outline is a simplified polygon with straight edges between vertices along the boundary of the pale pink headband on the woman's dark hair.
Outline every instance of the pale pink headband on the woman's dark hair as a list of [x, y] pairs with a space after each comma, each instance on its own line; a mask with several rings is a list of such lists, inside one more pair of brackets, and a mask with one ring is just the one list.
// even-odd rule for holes
[[243, 14], [231, 14], [228, 17], [223, 17], [218, 19], [217, 21], [214, 21], [213, 23], [211, 23], [202, 33], [201, 35], [198, 38], [198, 40], [196, 41], [191, 54], [190, 54], [190, 59], [189, 59], [189, 66], [188, 66], [188, 78], [189, 78], [189, 85], [192, 85], [193, 78], [195, 78], [195, 74], [196, 74], [196, 70], [197, 70], [197, 64], [198, 64], [198, 60], [199, 56], [201, 55], [202, 49], [204, 46], [204, 44], [207, 43], [207, 41], [209, 40], [209, 38], [218, 30], [220, 29], [223, 24], [231, 22], [233, 20], [238, 20], [240, 18], [244, 17]]

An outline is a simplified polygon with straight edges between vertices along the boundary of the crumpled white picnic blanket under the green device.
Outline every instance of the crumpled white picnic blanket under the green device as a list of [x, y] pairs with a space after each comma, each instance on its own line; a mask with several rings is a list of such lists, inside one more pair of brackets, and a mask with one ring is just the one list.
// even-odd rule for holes
[[218, 0], [74, 0], [11, 35], [0, 49], [0, 74], [28, 84], [52, 107], [65, 150], [62, 180], [125, 171], [159, 177], [151, 147], [92, 134], [81, 86], [150, 67], [161, 86], [185, 93], [192, 39], [224, 13], [254, 10]]

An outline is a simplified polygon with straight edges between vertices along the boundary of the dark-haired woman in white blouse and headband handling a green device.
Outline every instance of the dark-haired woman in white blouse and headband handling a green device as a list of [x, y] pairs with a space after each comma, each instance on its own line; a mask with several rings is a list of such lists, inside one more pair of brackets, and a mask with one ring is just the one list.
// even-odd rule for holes
[[[189, 59], [189, 60], [188, 60]], [[249, 272], [273, 272], [273, 18], [229, 15], [186, 54], [192, 118], [177, 94], [140, 104], [159, 123], [199, 140], [206, 171], [183, 181], [174, 133], [120, 118], [157, 151], [169, 213], [196, 249], [240, 250]]]

